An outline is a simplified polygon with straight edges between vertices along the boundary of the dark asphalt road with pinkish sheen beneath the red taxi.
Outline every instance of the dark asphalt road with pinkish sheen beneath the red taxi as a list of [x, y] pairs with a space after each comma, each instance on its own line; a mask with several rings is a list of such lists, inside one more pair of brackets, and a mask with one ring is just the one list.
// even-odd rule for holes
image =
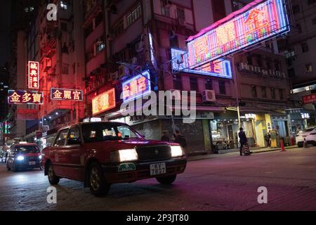
[[[258, 188], [268, 203], [258, 204]], [[46, 201], [47, 177], [38, 169], [7, 172], [0, 165], [0, 210], [316, 210], [316, 148], [189, 162], [173, 186], [155, 179], [113, 185], [95, 198], [77, 181], [62, 179], [57, 204]]]

